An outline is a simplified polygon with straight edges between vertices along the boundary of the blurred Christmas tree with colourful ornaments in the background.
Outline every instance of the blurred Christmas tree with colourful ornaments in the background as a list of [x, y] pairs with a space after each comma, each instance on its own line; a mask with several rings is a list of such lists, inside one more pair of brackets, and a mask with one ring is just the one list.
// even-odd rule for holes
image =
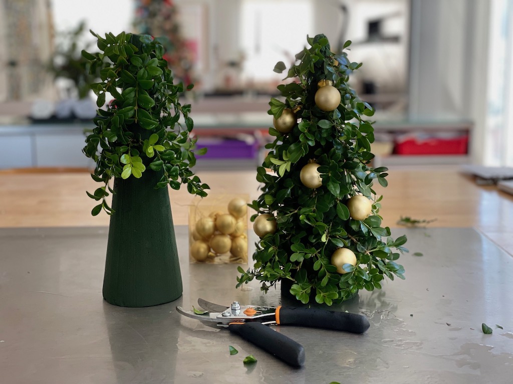
[[193, 78], [194, 52], [183, 38], [179, 9], [172, 0], [136, 0], [134, 27], [137, 33], [159, 37], [174, 78], [185, 86], [195, 83]]

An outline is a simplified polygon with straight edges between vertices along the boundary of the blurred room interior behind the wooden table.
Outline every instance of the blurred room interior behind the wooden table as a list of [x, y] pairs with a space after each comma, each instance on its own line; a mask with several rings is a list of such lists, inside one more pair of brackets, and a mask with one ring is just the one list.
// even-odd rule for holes
[[507, 0], [0, 0], [0, 169], [91, 166], [90, 29], [168, 39], [176, 81], [195, 85], [199, 163], [259, 164], [274, 65], [324, 33], [363, 62], [351, 83], [377, 111], [376, 163], [512, 166], [512, 21]]

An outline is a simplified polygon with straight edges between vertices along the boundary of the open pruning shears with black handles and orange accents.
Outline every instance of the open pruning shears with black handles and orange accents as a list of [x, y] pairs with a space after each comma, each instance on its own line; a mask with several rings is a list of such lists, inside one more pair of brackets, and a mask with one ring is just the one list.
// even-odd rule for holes
[[230, 332], [298, 368], [305, 362], [303, 346], [267, 325], [297, 325], [352, 333], [363, 333], [370, 326], [363, 315], [318, 308], [264, 307], [241, 305], [236, 301], [227, 307], [202, 298], [198, 299], [198, 304], [206, 311], [190, 311], [182, 307], [176, 307], [176, 310], [184, 316], [228, 328]]

